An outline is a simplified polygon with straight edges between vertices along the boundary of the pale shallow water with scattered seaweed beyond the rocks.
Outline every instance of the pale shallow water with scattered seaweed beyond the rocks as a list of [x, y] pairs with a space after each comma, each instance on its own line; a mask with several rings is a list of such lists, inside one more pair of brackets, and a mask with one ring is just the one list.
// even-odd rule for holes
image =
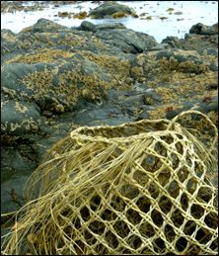
[[[45, 2], [45, 1], [41, 1]], [[102, 1], [104, 2], [104, 1]], [[140, 15], [147, 13], [139, 18], [121, 18], [121, 19], [101, 19], [95, 20], [86, 18], [94, 24], [120, 22], [128, 29], [138, 32], [144, 32], [153, 36], [158, 43], [161, 43], [167, 36], [175, 36], [182, 39], [185, 33], [188, 33], [192, 25], [203, 23], [211, 26], [218, 22], [218, 2], [217, 1], [117, 1], [132, 7], [135, 12]], [[27, 1], [27, 5], [31, 5], [31, 1]], [[39, 18], [45, 18], [55, 21], [67, 27], [78, 27], [83, 22], [79, 19], [68, 19], [55, 17], [58, 12], [89, 12], [90, 8], [94, 9], [99, 4], [91, 1], [84, 1], [80, 4], [63, 5], [53, 7], [46, 4], [46, 8], [42, 11], [35, 12], [15, 12], [1, 14], [1, 29], [9, 29], [15, 33], [20, 32], [25, 27], [29, 27], [37, 23]], [[168, 8], [174, 8], [172, 13], [168, 12]], [[182, 12], [182, 14], [175, 14]], [[151, 20], [142, 20], [151, 16]], [[168, 19], [161, 20], [161, 17]]]

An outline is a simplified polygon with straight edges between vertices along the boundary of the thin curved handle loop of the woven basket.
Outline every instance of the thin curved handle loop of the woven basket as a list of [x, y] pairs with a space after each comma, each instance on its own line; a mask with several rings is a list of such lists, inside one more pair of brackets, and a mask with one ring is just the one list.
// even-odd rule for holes
[[214, 150], [214, 147], [215, 147], [215, 145], [218, 141], [218, 129], [213, 124], [213, 122], [206, 115], [204, 115], [203, 113], [201, 113], [199, 111], [194, 111], [194, 110], [182, 112], [181, 114], [176, 116], [170, 122], [170, 124], [168, 125], [168, 129], [173, 129], [176, 124], [179, 124], [179, 120], [182, 119], [183, 116], [188, 116], [188, 115], [191, 115], [191, 114], [197, 114], [197, 115], [201, 116], [209, 124], [209, 126], [214, 129], [215, 134], [214, 134], [214, 137], [213, 137], [213, 141], [211, 143], [211, 147], [209, 149], [209, 153], [208, 153], [208, 155], [209, 155], [212, 152], [212, 150]]

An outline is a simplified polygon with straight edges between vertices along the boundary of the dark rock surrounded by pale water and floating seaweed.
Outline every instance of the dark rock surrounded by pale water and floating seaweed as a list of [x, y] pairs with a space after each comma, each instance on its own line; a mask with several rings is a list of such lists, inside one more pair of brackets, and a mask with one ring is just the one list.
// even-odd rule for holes
[[114, 1], [108, 1], [91, 10], [89, 16], [95, 19], [102, 19], [117, 12], [123, 12], [128, 15], [135, 14], [135, 11], [126, 5], [118, 4]]

